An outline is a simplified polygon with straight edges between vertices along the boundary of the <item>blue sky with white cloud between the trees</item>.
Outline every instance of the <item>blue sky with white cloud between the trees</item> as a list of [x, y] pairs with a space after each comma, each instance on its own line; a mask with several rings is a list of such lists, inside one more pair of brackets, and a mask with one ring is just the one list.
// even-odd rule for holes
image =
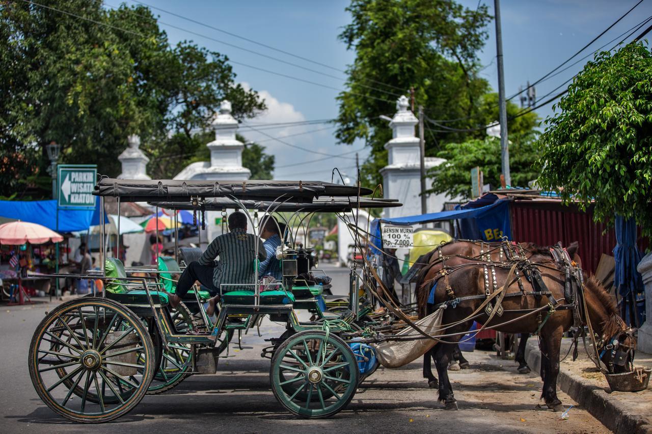
[[[490, 13], [493, 14], [494, 2], [491, 0], [481, 1], [489, 5]], [[134, 2], [130, 0], [127, 3], [132, 4]], [[346, 65], [353, 61], [353, 52], [347, 51], [346, 46], [337, 38], [342, 27], [350, 19], [348, 13], [344, 10], [349, 4], [348, 1], [216, 2], [148, 0], [146, 3], [340, 70], [344, 70]], [[469, 8], [476, 8], [478, 5], [477, 0], [460, 0], [460, 3]], [[514, 94], [518, 91], [520, 85], [526, 84], [527, 80], [533, 82], [565, 61], [593, 37], [599, 35], [635, 3], [634, 0], [501, 1], [507, 95]], [[118, 1], [108, 0], [104, 4], [106, 7], [115, 7], [119, 3]], [[166, 30], [170, 42], [173, 44], [179, 40], [194, 40], [194, 42], [209, 48], [209, 50], [228, 55], [232, 61], [237, 63], [264, 68], [280, 74], [301, 78], [302, 80], [314, 81], [327, 87], [341, 89], [344, 84], [344, 74], [336, 70], [306, 63], [268, 48], [208, 29], [199, 24], [188, 22], [177, 16], [171, 16], [161, 10], [155, 10], [155, 13], [160, 15], [160, 26]], [[596, 50], [602, 44], [606, 44], [651, 15], [652, 0], [645, 0], [608, 31], [606, 35], [602, 36], [588, 50], [573, 59], [569, 64]], [[342, 80], [325, 77], [301, 68], [279, 63], [274, 59], [238, 50], [209, 38], [174, 29], [170, 25], [235, 44], [248, 50], [259, 51], [274, 59], [298, 63], [306, 68], [342, 77]], [[484, 51], [480, 54], [480, 58], [482, 65], [486, 66], [481, 73], [482, 76], [490, 82], [494, 89], [497, 89], [494, 30], [494, 23], [492, 22], [488, 27], [489, 38]], [[609, 44], [607, 48], [611, 48], [614, 44], [615, 42]], [[543, 96], [571, 78], [590, 59], [592, 59], [592, 56], [554, 78], [537, 85], [537, 96]], [[267, 100], [269, 106], [267, 113], [250, 121], [251, 124], [332, 119], [337, 115], [338, 106], [335, 96], [338, 91], [334, 89], [291, 80], [243, 65], [233, 65], [233, 68], [237, 74], [236, 80], [246, 83], [259, 91]], [[562, 87], [560, 91], [563, 89], [565, 87]], [[553, 95], [556, 93], [553, 93]], [[547, 106], [537, 110], [537, 113], [545, 118], [552, 111], [550, 106]], [[311, 152], [289, 147], [252, 130], [246, 132], [243, 129], [241, 132], [248, 139], [259, 141], [261, 145], [265, 145], [267, 152], [271, 152], [276, 156], [276, 166], [278, 167], [274, 173], [276, 179], [330, 181], [333, 167], [339, 167], [353, 177], [355, 173], [355, 154], [342, 154], [361, 149], [360, 158], [363, 161], [368, 151], [363, 149], [363, 143], [358, 143], [353, 147], [337, 145], [333, 136], [333, 128], [324, 130], [326, 127], [327, 125], [314, 124], [295, 128], [265, 130], [265, 133], [269, 136], [281, 139], [282, 137], [301, 134], [283, 140], [326, 155], [312, 154]], [[336, 156], [341, 157], [336, 158]], [[325, 158], [325, 160], [309, 162], [317, 158]]]

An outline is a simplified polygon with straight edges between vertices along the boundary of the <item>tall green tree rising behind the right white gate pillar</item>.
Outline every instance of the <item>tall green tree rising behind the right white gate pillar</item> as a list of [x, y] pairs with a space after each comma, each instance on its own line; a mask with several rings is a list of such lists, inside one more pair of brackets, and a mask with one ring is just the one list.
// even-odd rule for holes
[[[485, 122], [479, 113], [489, 87], [478, 76], [477, 52], [490, 20], [486, 6], [470, 10], [453, 0], [353, 0], [347, 10], [352, 21], [340, 39], [356, 57], [348, 70], [349, 90], [338, 96], [336, 137], [348, 144], [364, 139], [372, 147], [363, 167], [367, 184], [381, 182], [379, 169], [387, 164], [383, 145], [391, 130], [378, 115], [394, 113], [398, 94], [409, 94], [411, 87], [431, 119], [460, 119], [447, 123], [459, 129]], [[432, 132], [426, 154], [436, 152], [437, 142], [466, 136]]]

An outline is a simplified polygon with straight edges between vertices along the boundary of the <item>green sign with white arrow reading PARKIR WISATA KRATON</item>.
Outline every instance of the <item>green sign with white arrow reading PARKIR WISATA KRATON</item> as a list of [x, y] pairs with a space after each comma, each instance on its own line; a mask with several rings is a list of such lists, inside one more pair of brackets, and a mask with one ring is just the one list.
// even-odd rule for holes
[[95, 164], [59, 164], [57, 166], [59, 208], [95, 209], [93, 188], [96, 179]]

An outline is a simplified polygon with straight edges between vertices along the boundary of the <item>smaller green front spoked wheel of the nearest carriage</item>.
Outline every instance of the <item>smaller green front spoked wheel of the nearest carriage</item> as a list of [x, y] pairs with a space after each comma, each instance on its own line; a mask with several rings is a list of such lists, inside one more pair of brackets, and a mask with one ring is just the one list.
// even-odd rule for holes
[[272, 358], [274, 396], [288, 411], [310, 419], [342, 411], [359, 381], [355, 355], [342, 339], [321, 331], [290, 336]]

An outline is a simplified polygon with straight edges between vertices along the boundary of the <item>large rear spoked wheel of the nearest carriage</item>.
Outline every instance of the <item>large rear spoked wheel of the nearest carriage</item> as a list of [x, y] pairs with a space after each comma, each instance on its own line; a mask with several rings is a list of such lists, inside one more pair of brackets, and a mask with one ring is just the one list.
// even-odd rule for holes
[[61, 304], [38, 325], [29, 375], [38, 396], [61, 416], [108, 422], [145, 396], [155, 358], [138, 316], [113, 300], [83, 297]]

